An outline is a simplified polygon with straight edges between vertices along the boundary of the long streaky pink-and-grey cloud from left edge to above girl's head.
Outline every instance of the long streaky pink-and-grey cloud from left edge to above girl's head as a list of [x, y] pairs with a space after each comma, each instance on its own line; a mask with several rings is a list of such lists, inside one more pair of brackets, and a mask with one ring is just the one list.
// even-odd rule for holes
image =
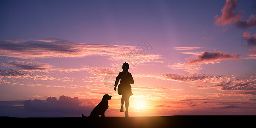
[[[91, 55], [108, 56], [117, 61], [128, 59], [131, 51], [138, 51], [135, 46], [128, 45], [99, 45], [73, 43], [61, 39], [40, 41], [0, 41], [0, 55], [15, 58], [70, 58]], [[118, 53], [118, 54], [116, 54]], [[135, 53], [131, 54], [135, 55]], [[136, 52], [141, 56], [140, 63], [154, 61], [163, 58], [161, 55]]]

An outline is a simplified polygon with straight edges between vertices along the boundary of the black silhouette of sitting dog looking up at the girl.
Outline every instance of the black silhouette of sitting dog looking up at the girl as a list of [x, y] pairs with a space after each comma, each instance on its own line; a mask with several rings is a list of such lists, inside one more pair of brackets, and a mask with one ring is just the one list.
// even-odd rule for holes
[[[99, 115], [105, 117], [105, 111], [108, 109], [108, 100], [111, 99], [111, 97], [112, 96], [105, 94], [102, 101], [99, 102], [95, 108], [93, 108], [93, 111], [90, 113], [89, 117], [99, 117]], [[84, 114], [82, 114], [82, 117], [85, 117]]]

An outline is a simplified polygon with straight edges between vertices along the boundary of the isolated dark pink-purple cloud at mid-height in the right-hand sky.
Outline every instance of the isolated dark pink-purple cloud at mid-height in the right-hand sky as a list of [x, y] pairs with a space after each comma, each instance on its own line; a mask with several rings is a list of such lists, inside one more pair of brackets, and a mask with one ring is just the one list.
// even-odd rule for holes
[[221, 51], [218, 52], [207, 52], [204, 51], [201, 55], [194, 60], [189, 61], [187, 64], [198, 64], [202, 62], [214, 62], [220, 60], [227, 60], [227, 59], [239, 59], [241, 55], [230, 55], [228, 53], [222, 53]]

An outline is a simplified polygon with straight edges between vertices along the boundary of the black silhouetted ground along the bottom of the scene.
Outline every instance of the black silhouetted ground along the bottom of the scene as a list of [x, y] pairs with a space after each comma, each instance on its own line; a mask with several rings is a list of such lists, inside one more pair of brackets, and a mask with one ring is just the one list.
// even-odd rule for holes
[[151, 116], [15, 118], [0, 117], [6, 128], [253, 128], [256, 116]]

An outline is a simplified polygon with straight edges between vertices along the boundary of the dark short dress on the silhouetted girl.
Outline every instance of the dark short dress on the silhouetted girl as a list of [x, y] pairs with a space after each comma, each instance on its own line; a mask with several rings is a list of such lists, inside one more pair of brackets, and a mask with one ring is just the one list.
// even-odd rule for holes
[[119, 81], [121, 79], [120, 84], [118, 85], [117, 92], [119, 95], [131, 96], [131, 85], [134, 84], [134, 80], [129, 72], [120, 72], [116, 77], [116, 80]]

